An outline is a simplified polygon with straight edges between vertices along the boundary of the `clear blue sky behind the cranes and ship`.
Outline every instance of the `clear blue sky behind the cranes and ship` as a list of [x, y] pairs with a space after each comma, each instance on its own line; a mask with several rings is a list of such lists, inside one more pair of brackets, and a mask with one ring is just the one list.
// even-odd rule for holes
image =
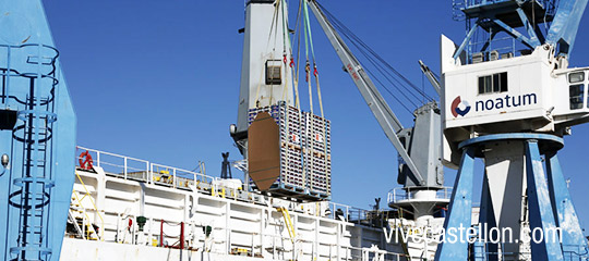
[[[459, 42], [465, 34], [464, 23], [452, 18], [450, 1], [322, 3], [429, 94], [433, 90], [417, 61], [438, 73], [440, 35]], [[45, 7], [77, 114], [79, 145], [188, 170], [205, 161], [207, 174], [215, 176], [223, 151], [239, 159], [228, 129], [237, 121], [243, 1], [62, 0], [45, 1]], [[572, 66], [589, 65], [588, 16]], [[397, 152], [312, 23], [333, 129], [333, 199], [368, 209], [376, 197], [385, 202], [397, 186]], [[385, 98], [410, 126], [410, 115]], [[587, 227], [589, 126], [574, 127], [565, 142], [560, 158]], [[241, 173], [233, 170], [233, 175]], [[446, 185], [453, 182], [448, 171]]]

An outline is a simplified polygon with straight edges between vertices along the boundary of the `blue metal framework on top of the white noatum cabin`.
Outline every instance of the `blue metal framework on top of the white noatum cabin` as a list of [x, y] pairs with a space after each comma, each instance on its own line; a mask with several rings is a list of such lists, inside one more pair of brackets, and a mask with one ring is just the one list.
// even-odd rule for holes
[[[515, 40], [533, 50], [538, 46], [549, 44], [557, 48], [558, 55], [567, 57], [575, 42], [579, 23], [589, 0], [454, 0], [453, 5], [459, 8], [466, 17], [467, 28], [480, 28], [479, 36], [486, 37], [485, 41], [493, 41], [496, 30], [502, 30]], [[532, 11], [533, 10], [533, 11]], [[537, 11], [538, 10], [538, 11]], [[514, 17], [519, 17], [515, 22]], [[540, 25], [543, 24], [543, 25]], [[478, 25], [478, 26], [477, 26]], [[549, 28], [544, 37], [541, 27]], [[472, 52], [489, 52], [490, 45], [479, 46], [471, 37], [468, 29], [466, 42], [460, 45], [460, 52], [467, 50], [467, 57]], [[486, 36], [485, 33], [490, 33]], [[466, 45], [465, 45], [466, 44]], [[480, 48], [472, 52], [466, 46]], [[504, 46], [501, 49], [512, 49], [515, 46]], [[459, 53], [459, 52], [458, 52]], [[457, 54], [454, 55], [458, 58]]]

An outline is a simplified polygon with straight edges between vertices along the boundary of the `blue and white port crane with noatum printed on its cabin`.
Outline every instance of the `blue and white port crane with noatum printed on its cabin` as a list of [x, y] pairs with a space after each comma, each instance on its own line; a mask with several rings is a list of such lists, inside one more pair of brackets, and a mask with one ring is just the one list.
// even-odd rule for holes
[[[587, 2], [453, 2], [468, 29], [459, 45], [441, 39], [444, 162], [459, 167], [444, 227], [472, 226], [474, 238], [507, 229], [515, 240], [443, 241], [435, 260], [587, 260], [556, 157], [570, 127], [589, 121], [589, 70], [568, 67]], [[478, 221], [470, 211], [476, 158], [484, 159]], [[549, 237], [555, 227], [562, 233]]]

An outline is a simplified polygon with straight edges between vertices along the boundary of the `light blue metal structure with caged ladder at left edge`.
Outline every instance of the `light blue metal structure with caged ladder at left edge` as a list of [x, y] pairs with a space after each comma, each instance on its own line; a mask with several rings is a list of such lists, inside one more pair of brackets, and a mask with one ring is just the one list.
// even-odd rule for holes
[[75, 114], [40, 0], [0, 1], [0, 260], [59, 260], [75, 159]]

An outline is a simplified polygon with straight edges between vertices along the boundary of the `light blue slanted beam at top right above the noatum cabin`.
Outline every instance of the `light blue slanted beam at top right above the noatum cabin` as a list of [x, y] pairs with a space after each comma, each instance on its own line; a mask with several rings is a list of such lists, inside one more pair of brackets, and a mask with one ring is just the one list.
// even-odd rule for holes
[[560, 0], [546, 36], [546, 44], [558, 45], [558, 55], [567, 57], [573, 50], [587, 2], [588, 0]]

